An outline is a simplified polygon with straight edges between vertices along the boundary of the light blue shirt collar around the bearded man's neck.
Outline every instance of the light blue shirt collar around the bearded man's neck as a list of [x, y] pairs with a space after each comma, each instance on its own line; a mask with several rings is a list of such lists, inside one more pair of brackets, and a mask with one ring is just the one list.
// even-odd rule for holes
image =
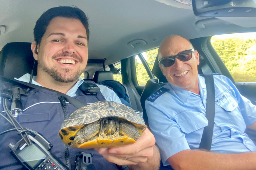
[[[27, 82], [29, 83], [29, 80], [30, 80], [30, 74], [27, 73], [23, 76], [21, 76], [20, 78], [14, 78], [16, 80], [20, 80], [22, 82]], [[32, 84], [35, 84], [35, 85], [38, 85], [38, 86], [42, 86], [41, 84], [37, 83], [36, 82], [36, 76], [33, 76], [33, 79], [32, 79]], [[68, 93], [66, 93], [66, 95], [69, 95], [71, 97], [74, 97], [76, 96], [76, 91], [78, 89], [79, 86], [81, 86], [81, 84], [83, 83], [83, 79], [81, 77], [78, 78], [76, 84], [68, 91]]]

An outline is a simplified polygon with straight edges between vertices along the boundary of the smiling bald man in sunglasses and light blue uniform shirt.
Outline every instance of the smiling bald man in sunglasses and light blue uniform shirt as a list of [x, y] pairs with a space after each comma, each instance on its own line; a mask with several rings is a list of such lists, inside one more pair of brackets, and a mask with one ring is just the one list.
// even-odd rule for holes
[[161, 43], [158, 57], [168, 83], [145, 105], [163, 164], [174, 169], [255, 169], [256, 146], [244, 131], [246, 125], [256, 130], [256, 106], [227, 77], [213, 75], [212, 152], [198, 150], [208, 125], [205, 79], [197, 71], [199, 54], [187, 39], [171, 35]]

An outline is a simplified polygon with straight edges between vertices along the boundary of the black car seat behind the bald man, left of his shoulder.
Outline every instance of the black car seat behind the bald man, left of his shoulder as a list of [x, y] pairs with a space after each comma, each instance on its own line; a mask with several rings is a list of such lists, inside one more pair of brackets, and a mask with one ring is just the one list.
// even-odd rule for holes
[[161, 69], [159, 68], [157, 56], [156, 56], [155, 63], [153, 65], [152, 72], [157, 77], [157, 79], [149, 79], [141, 94], [141, 106], [143, 109], [143, 119], [146, 125], [148, 125], [148, 116], [146, 113], [145, 101], [152, 93], [154, 93], [157, 89], [164, 86], [164, 84], [166, 84], [167, 82], [165, 76], [163, 75]]

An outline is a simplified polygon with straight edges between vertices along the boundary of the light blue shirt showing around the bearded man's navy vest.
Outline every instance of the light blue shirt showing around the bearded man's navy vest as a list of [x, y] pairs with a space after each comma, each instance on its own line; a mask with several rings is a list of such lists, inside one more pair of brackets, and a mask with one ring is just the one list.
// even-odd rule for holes
[[[27, 74], [21, 76], [19, 79], [16, 79], [16, 80], [20, 80], [22, 82], [27, 82], [28, 83], [29, 80], [30, 80], [30, 74], [27, 73]], [[38, 86], [42, 86], [41, 84], [37, 83], [35, 80], [36, 80], [36, 76], [33, 76], [33, 79], [32, 79], [31, 83], [35, 84], [35, 85], [38, 85]], [[82, 83], [83, 83], [83, 79], [81, 77], [79, 77], [76, 84], [68, 91], [68, 93], [66, 93], [66, 95], [69, 95], [71, 97], [76, 96], [76, 91]], [[118, 98], [117, 94], [115, 94], [115, 92], [113, 90], [111, 90], [110, 88], [108, 88], [106, 86], [103, 86], [103, 85], [97, 84], [97, 86], [100, 88], [100, 92], [103, 94], [103, 96], [105, 97], [106, 100], [114, 101], [114, 102], [118, 102], [118, 103], [122, 104], [122, 102]], [[1, 98], [0, 98], [0, 101], [1, 101]], [[1, 104], [1, 102], [0, 102], [0, 104]]]

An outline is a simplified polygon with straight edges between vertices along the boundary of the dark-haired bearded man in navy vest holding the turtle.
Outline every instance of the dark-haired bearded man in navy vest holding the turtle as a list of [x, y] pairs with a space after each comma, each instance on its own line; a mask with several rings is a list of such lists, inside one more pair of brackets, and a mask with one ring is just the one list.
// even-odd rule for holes
[[[32, 83], [65, 93], [85, 103], [110, 100], [121, 103], [117, 95], [105, 86], [100, 86], [97, 96], [88, 96], [80, 89], [83, 80], [79, 77], [88, 59], [88, 20], [85, 13], [74, 7], [60, 6], [44, 12], [34, 28], [35, 41], [31, 44], [34, 59], [38, 62], [37, 76]], [[18, 80], [29, 82], [26, 74]], [[92, 82], [90, 82], [92, 83]], [[45, 89], [30, 90], [22, 96], [23, 113], [17, 119], [23, 128], [40, 132], [54, 146], [52, 153], [71, 168], [79, 151], [92, 152], [95, 169], [118, 169], [118, 165], [128, 165], [130, 169], [158, 169], [159, 151], [155, 138], [146, 129], [134, 144], [116, 147], [81, 150], [67, 147], [57, 134], [61, 123], [77, 108], [68, 102], [61, 102], [55, 92]], [[63, 106], [65, 105], [65, 106]], [[2, 102], [0, 105], [3, 111]], [[12, 126], [0, 117], [0, 131]], [[17, 132], [8, 132], [0, 138], [0, 169], [21, 169], [21, 165], [9, 152], [8, 144], [17, 143]]]

